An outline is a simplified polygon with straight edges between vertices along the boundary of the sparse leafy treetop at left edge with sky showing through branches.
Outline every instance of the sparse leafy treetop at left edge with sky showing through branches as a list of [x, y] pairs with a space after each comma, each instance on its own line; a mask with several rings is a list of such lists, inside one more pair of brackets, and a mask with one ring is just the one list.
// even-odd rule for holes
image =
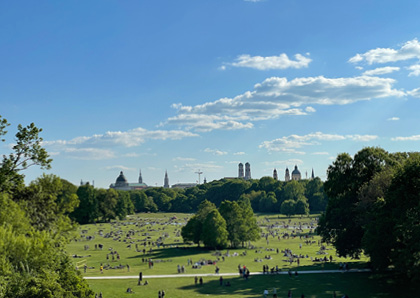
[[[5, 130], [10, 124], [0, 116], [0, 136], [5, 136]], [[13, 192], [23, 186], [22, 173], [27, 168], [37, 165], [41, 169], [50, 169], [52, 159], [49, 158], [47, 151], [41, 146], [43, 139], [39, 136], [42, 128], [38, 128], [34, 123], [23, 127], [18, 125], [18, 132], [15, 135], [15, 144], [12, 153], [3, 155], [0, 164], [0, 192]], [[4, 138], [1, 141], [5, 141]]]

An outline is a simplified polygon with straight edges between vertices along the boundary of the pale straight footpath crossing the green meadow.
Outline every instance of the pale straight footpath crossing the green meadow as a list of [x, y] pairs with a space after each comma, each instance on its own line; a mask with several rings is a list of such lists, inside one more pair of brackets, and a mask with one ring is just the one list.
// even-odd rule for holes
[[[296, 271], [292, 271], [295, 275]], [[297, 274], [322, 274], [322, 273], [362, 273], [371, 272], [370, 269], [350, 269], [350, 270], [308, 270], [308, 271], [297, 271]], [[250, 275], [276, 275], [276, 274], [289, 274], [288, 271], [281, 271], [276, 273], [263, 273], [263, 272], [251, 272]], [[238, 272], [235, 273], [204, 273], [204, 274], [162, 274], [162, 275], [143, 275], [143, 280], [151, 278], [179, 278], [179, 277], [195, 277], [195, 276], [239, 276]], [[138, 279], [138, 275], [126, 275], [126, 276], [85, 276], [84, 279]]]

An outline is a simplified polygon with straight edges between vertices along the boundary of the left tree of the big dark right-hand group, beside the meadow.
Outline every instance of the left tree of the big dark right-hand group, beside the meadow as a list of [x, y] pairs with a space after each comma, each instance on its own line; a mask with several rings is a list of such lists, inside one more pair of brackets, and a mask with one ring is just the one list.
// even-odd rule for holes
[[318, 232], [324, 241], [334, 244], [340, 256], [357, 257], [362, 252], [361, 220], [366, 217], [366, 210], [358, 207], [362, 186], [377, 173], [398, 165], [400, 157], [381, 148], [367, 147], [353, 159], [348, 154], [340, 154], [328, 167], [324, 188], [329, 201]]

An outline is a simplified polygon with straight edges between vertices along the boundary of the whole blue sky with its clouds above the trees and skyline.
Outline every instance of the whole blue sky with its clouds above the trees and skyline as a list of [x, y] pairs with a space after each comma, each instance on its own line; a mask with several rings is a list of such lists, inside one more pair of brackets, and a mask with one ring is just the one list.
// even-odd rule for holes
[[[2, 1], [0, 114], [107, 188], [420, 145], [419, 1]], [[42, 173], [32, 168], [27, 181]]]

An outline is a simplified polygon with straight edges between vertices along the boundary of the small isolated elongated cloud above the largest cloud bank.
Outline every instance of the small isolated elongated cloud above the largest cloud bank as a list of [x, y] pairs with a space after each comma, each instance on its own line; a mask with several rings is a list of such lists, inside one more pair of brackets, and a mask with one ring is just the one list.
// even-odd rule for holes
[[312, 61], [310, 58], [301, 54], [296, 54], [295, 58], [296, 60], [290, 60], [284, 53], [278, 56], [269, 57], [240, 55], [236, 58], [236, 62], [229, 63], [228, 65], [268, 70], [308, 67], [309, 63]]

